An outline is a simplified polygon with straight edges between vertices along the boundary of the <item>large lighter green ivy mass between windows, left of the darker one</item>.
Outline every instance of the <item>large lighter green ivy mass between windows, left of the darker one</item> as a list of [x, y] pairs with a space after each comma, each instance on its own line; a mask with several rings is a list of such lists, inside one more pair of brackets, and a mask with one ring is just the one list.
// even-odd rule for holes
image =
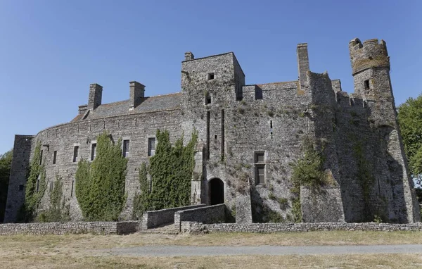
[[94, 161], [78, 163], [75, 194], [85, 220], [117, 220], [122, 212], [127, 159], [121, 144], [104, 132], [98, 136]]

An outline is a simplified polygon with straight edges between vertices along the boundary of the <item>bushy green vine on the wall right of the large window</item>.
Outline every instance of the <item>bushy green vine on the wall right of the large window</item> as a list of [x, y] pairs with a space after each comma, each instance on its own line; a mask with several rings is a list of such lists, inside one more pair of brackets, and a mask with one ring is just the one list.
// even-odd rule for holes
[[291, 192], [295, 194], [292, 199], [292, 211], [289, 220], [295, 223], [302, 222], [302, 210], [300, 208], [300, 186], [319, 189], [328, 184], [328, 174], [324, 170], [325, 157], [322, 149], [316, 149], [312, 139], [305, 137], [302, 142], [303, 155], [293, 164], [291, 177], [293, 187]]

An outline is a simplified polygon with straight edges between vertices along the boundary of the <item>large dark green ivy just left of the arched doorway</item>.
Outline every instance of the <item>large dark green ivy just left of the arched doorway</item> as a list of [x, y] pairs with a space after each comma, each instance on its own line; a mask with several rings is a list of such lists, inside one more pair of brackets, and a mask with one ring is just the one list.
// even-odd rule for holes
[[[197, 132], [184, 146], [183, 138], [172, 146], [167, 130], [157, 131], [157, 147], [149, 165], [139, 169], [141, 194], [134, 198], [134, 218], [141, 218], [144, 211], [187, 206], [191, 202], [191, 179], [195, 167]], [[151, 176], [151, 187], [147, 174]]]

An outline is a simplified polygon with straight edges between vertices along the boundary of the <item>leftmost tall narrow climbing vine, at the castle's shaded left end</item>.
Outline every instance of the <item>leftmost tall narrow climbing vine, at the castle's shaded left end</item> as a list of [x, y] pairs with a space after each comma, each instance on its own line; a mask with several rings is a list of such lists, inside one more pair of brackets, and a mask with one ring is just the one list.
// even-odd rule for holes
[[20, 208], [18, 220], [24, 223], [34, 221], [42, 196], [46, 190], [46, 170], [41, 160], [41, 142], [37, 141], [34, 156], [30, 162], [25, 187], [25, 203]]

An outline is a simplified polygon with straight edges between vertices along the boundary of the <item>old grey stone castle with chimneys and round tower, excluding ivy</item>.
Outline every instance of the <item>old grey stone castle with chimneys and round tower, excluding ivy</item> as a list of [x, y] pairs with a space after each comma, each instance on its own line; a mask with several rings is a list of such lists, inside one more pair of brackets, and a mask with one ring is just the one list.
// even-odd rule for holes
[[[318, 192], [300, 187], [303, 221], [364, 222], [374, 215], [392, 223], [420, 221], [386, 44], [353, 39], [349, 49], [354, 94], [343, 92], [340, 80], [327, 73], [309, 71], [307, 44], [298, 44], [299, 79], [290, 82], [245, 85], [234, 53], [194, 58], [187, 52], [181, 92], [147, 97], [145, 86], [133, 81], [129, 100], [102, 104], [103, 87], [91, 84], [88, 104], [79, 106], [70, 123], [15, 136], [5, 222], [16, 220], [24, 202], [37, 141], [49, 189], [56, 173], [61, 175], [72, 220], [82, 218], [75, 197], [77, 162], [95, 158], [96, 137], [104, 130], [122, 139], [128, 158], [121, 218], [129, 219], [139, 192], [139, 166], [154, 155], [158, 129], [168, 130], [172, 142], [182, 135], [187, 142], [197, 130], [191, 204], [225, 203], [236, 209], [238, 223], [250, 223], [267, 209], [288, 220], [295, 198], [292, 163], [303, 155], [305, 137], [324, 148], [324, 169], [333, 183]], [[41, 207], [49, 204], [48, 192]]]

